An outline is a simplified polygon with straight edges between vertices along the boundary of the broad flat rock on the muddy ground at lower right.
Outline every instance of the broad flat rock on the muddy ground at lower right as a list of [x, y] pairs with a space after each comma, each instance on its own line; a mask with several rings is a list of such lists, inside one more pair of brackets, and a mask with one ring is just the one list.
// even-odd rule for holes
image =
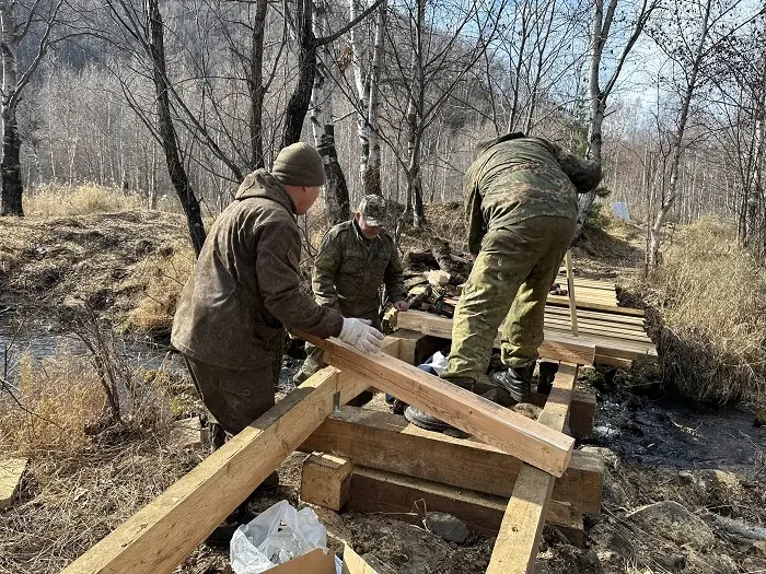
[[708, 550], [716, 543], [710, 527], [675, 501], [641, 506], [625, 515], [647, 532], [662, 536], [678, 546]]

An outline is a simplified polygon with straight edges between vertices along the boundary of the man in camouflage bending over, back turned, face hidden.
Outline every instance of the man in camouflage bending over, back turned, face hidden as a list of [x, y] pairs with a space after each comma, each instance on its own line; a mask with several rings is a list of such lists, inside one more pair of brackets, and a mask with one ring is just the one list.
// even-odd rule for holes
[[[509, 133], [480, 143], [465, 174], [468, 247], [476, 261], [463, 288], [442, 378], [473, 389], [487, 371], [503, 325], [503, 368], [490, 378], [517, 402], [529, 402], [545, 302], [574, 235], [578, 194], [601, 180], [601, 165], [541, 138]], [[426, 429], [449, 425], [409, 407]]]

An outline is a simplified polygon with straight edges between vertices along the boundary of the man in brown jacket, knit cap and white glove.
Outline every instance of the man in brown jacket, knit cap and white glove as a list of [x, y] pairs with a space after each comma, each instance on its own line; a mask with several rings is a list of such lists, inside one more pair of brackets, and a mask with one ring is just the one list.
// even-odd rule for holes
[[375, 352], [370, 321], [344, 318], [300, 286], [295, 215], [324, 184], [320, 154], [305, 143], [281, 150], [271, 173], [257, 169], [210, 229], [178, 301], [172, 342], [205, 405], [230, 435], [274, 406], [285, 329], [339, 337]]

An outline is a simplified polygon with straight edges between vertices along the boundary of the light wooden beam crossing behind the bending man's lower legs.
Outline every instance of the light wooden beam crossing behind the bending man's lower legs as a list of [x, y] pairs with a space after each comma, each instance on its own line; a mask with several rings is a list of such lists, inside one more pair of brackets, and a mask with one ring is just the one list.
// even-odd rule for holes
[[[442, 339], [452, 339], [452, 319], [421, 311], [397, 313], [396, 326]], [[499, 344], [499, 335], [496, 343]], [[592, 365], [595, 358], [595, 347], [590, 342], [581, 341], [578, 337], [548, 332], [539, 347], [539, 355], [556, 361]]]

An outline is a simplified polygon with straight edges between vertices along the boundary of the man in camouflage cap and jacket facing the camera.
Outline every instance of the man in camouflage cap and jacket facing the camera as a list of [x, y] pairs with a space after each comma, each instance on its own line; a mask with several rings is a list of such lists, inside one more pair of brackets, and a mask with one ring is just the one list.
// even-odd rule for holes
[[[314, 261], [312, 289], [316, 302], [381, 328], [378, 290], [397, 311], [407, 311], [402, 259], [394, 238], [384, 231], [385, 200], [364, 196], [353, 218], [333, 226], [322, 241]], [[324, 366], [324, 351], [307, 345], [307, 358], [295, 375], [300, 384]], [[363, 402], [369, 397], [360, 397]]]

